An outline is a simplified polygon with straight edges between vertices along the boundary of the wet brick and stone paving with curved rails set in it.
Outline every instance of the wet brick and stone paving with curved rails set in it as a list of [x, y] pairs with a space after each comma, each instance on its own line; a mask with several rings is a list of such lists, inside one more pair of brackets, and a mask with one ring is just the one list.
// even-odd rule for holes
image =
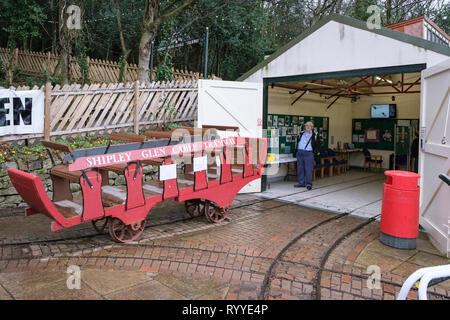
[[[218, 225], [184, 212], [150, 216], [153, 226], [131, 245], [87, 224], [50, 234], [41, 218], [25, 228], [29, 218], [0, 218], [1, 232], [26, 229], [1, 235], [0, 299], [388, 300], [413, 271], [450, 263], [423, 235], [417, 249], [396, 250], [379, 242], [376, 221], [349, 233], [365, 220], [251, 195], [238, 196]], [[81, 268], [80, 290], [66, 287], [70, 265]], [[380, 267], [378, 289], [367, 285], [371, 265]], [[429, 288], [429, 299], [449, 298], [450, 281]]]

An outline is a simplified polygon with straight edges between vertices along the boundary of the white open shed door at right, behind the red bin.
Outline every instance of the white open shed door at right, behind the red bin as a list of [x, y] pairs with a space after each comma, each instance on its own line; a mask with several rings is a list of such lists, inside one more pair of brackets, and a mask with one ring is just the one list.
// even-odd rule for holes
[[421, 127], [425, 145], [419, 151], [420, 224], [436, 247], [450, 256], [450, 186], [439, 174], [450, 174], [450, 59], [422, 72]]

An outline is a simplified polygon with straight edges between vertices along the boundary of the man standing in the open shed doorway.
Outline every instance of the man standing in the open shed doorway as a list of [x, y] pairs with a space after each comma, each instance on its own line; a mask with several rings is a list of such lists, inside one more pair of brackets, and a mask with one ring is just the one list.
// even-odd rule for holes
[[[313, 131], [314, 124], [309, 121], [305, 124], [305, 131], [300, 134], [297, 143], [297, 178], [296, 188], [312, 188], [312, 174], [314, 170], [314, 155], [320, 149], [320, 139]], [[306, 180], [306, 181], [305, 181]]]

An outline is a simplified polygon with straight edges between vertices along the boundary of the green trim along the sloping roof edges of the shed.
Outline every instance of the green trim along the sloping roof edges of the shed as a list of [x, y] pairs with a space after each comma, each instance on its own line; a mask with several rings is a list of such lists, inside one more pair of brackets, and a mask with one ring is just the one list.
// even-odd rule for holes
[[303, 39], [305, 39], [306, 37], [308, 37], [310, 34], [314, 33], [315, 31], [317, 31], [318, 29], [320, 29], [322, 26], [324, 26], [325, 24], [327, 24], [330, 21], [335, 21], [338, 23], [342, 23], [345, 25], [349, 25], [351, 27], [355, 27], [361, 30], [365, 30], [365, 31], [370, 31], [385, 37], [389, 37], [395, 40], [399, 40], [402, 42], [406, 42], [427, 50], [431, 50], [446, 56], [450, 57], [450, 47], [444, 46], [444, 45], [440, 45], [425, 39], [421, 39], [418, 37], [414, 37], [411, 36], [409, 34], [405, 34], [399, 31], [394, 31], [391, 29], [387, 29], [387, 28], [381, 28], [381, 29], [369, 29], [367, 28], [367, 25], [365, 22], [354, 19], [354, 18], [350, 18], [350, 17], [344, 17], [344, 16], [339, 16], [336, 14], [330, 14], [328, 17], [321, 19], [319, 22], [317, 22], [314, 26], [312, 26], [311, 28], [305, 30], [305, 32], [303, 32], [302, 34], [300, 34], [299, 36], [297, 36], [296, 38], [294, 38], [292, 41], [290, 41], [288, 44], [286, 44], [285, 46], [281, 47], [279, 50], [277, 50], [274, 54], [272, 54], [270, 57], [268, 57], [266, 60], [260, 62], [259, 64], [257, 64], [255, 67], [253, 67], [252, 69], [250, 69], [249, 71], [247, 71], [245, 74], [243, 74], [242, 76], [240, 76], [236, 81], [244, 81], [245, 79], [247, 79], [249, 76], [251, 76], [252, 74], [254, 74], [255, 72], [257, 72], [259, 69], [263, 68], [264, 66], [268, 65], [270, 62], [272, 62], [273, 60], [275, 60], [276, 58], [278, 58], [279, 56], [281, 56], [283, 53], [285, 53], [287, 50], [291, 49], [293, 46], [295, 46], [297, 43], [299, 43], [300, 41], [302, 41]]

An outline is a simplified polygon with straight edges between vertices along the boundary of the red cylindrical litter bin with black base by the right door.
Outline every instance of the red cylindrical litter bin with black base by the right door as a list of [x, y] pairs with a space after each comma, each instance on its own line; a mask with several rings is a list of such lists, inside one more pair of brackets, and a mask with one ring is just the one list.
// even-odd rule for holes
[[419, 234], [420, 175], [386, 171], [381, 207], [380, 241], [398, 249], [415, 249]]

